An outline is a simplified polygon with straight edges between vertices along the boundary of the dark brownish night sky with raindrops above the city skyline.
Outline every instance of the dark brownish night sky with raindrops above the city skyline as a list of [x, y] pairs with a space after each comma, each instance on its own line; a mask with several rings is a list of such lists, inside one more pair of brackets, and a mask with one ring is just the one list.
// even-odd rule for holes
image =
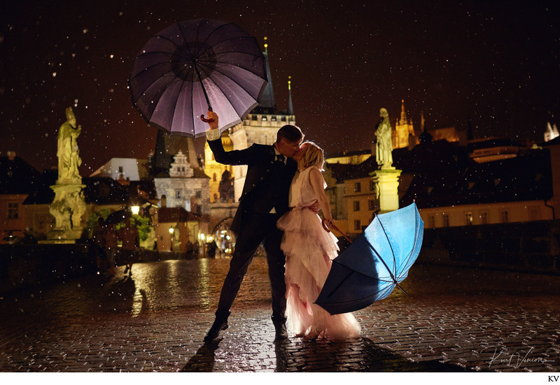
[[[489, 3], [489, 4], [482, 4]], [[132, 61], [176, 21], [235, 22], [269, 42], [276, 106], [326, 152], [369, 148], [379, 108], [405, 99], [428, 129], [541, 141], [560, 126], [560, 1], [12, 1], [0, 4], [0, 140], [43, 170], [72, 106], [82, 176], [146, 159], [156, 129], [132, 107]], [[204, 139], [197, 139], [202, 149]]]

